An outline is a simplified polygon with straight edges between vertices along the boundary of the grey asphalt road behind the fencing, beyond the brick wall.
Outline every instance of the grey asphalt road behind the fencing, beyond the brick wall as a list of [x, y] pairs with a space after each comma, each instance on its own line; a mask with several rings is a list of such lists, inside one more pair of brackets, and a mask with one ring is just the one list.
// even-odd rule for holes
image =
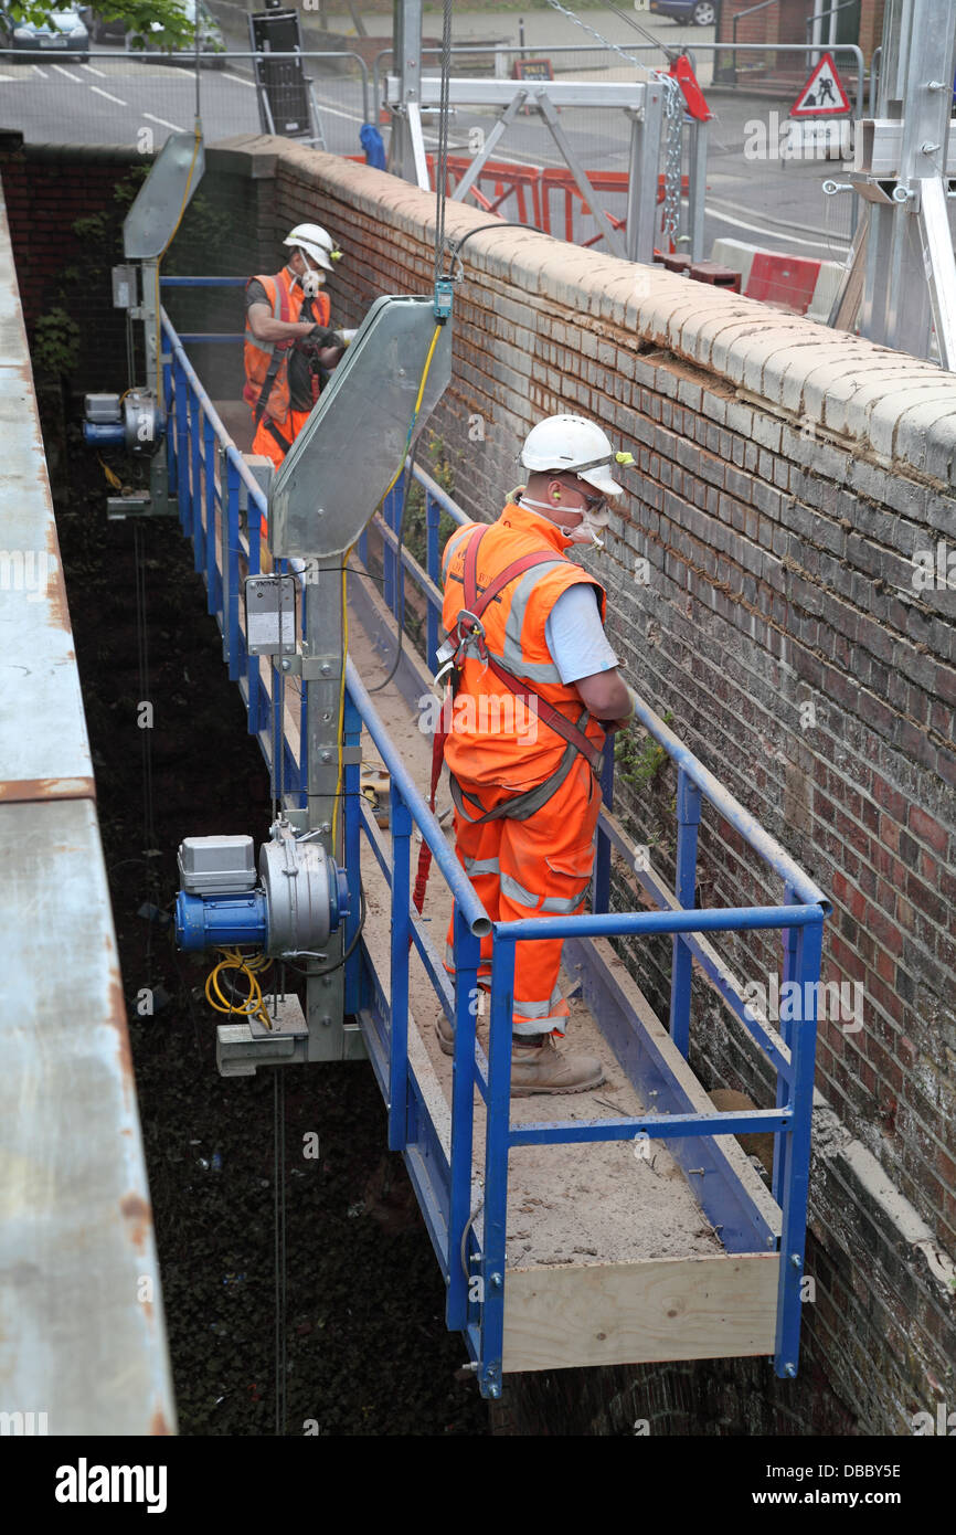
[[[327, 147], [335, 154], [359, 154], [358, 135], [364, 121], [359, 83], [316, 72], [315, 94]], [[852, 200], [826, 198], [821, 192], [826, 177], [836, 173], [839, 178], [839, 164], [749, 160], [744, 143], [750, 124], [767, 123], [772, 111], [786, 120], [787, 103], [723, 92], [714, 92], [710, 103], [715, 121], [709, 130], [704, 252], [710, 253], [714, 239], [729, 236], [793, 255], [842, 259]], [[38, 63], [12, 63], [9, 55], [0, 58], [0, 126], [21, 129], [31, 143], [114, 143], [149, 150], [158, 147], [167, 132], [192, 127], [193, 114], [193, 72], [160, 60], [141, 63], [97, 48], [86, 64], [55, 57]], [[256, 92], [247, 61], [230, 60], [226, 68], [201, 71], [201, 114], [207, 143], [258, 130]], [[451, 124], [453, 149], [465, 154], [470, 130], [488, 132], [494, 118], [491, 109], [459, 107]], [[562, 126], [585, 167], [628, 169], [629, 124], [621, 112], [566, 109]], [[427, 132], [428, 147], [436, 143], [434, 134]], [[499, 155], [537, 166], [565, 164], [537, 117], [519, 118], [502, 140]], [[603, 204], [618, 216], [623, 213], [623, 195], [609, 193]], [[517, 216], [514, 206], [503, 212]], [[555, 233], [563, 232], [560, 195], [552, 198], [552, 216]], [[592, 221], [579, 216], [575, 238], [586, 239], [592, 232]]]

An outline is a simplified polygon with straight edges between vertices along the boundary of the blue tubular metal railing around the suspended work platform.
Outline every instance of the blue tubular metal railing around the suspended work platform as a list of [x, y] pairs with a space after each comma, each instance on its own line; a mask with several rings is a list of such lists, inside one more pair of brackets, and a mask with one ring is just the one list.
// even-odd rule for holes
[[[184, 282], [189, 279], [183, 279]], [[183, 350], [181, 338], [163, 315], [167, 342], [164, 378], [170, 422], [170, 485], [176, 487], [183, 530], [190, 533], [196, 548], [196, 568], [203, 571], [210, 606], [215, 606], [224, 635], [230, 675], [244, 688], [249, 705], [249, 728], [256, 734], [269, 757], [270, 703], [258, 674], [258, 660], [249, 657], [238, 612], [238, 556], [242, 550], [249, 569], [259, 568], [259, 520], [267, 511], [262, 491], [252, 479], [241, 453], [229, 437], [212, 401], [203, 390]], [[212, 473], [218, 444], [224, 476], [216, 482]], [[384, 511], [373, 523], [382, 540], [385, 599], [396, 622], [402, 622], [404, 582], [408, 574], [427, 602], [425, 648], [430, 665], [439, 639], [440, 620], [440, 514], [453, 522], [470, 519], [447, 491], [425, 471], [413, 470], [425, 494], [425, 568], [404, 548], [397, 528], [402, 487], [396, 485]], [[239, 503], [249, 513], [249, 546], [239, 534]], [[216, 510], [226, 520], [226, 580], [216, 566]], [[358, 543], [367, 563], [368, 533]], [[508, 1154], [522, 1145], [571, 1145], [595, 1141], [621, 1141], [648, 1134], [669, 1142], [681, 1160], [683, 1148], [694, 1148], [695, 1171], [714, 1171], [720, 1177], [701, 1177], [700, 1202], [715, 1225], [723, 1228], [727, 1253], [763, 1253], [778, 1246], [773, 1228], [763, 1211], [740, 1187], [727, 1182], [727, 1164], [717, 1144], [720, 1136], [770, 1131], [775, 1137], [772, 1193], [781, 1208], [780, 1279], [776, 1305], [775, 1369], [781, 1377], [796, 1374], [799, 1343], [799, 1286], [804, 1262], [807, 1182], [810, 1164], [810, 1113], [813, 1101], [813, 1068], [816, 1047], [816, 1001], [822, 924], [830, 903], [822, 890], [793, 863], [789, 853], [760, 823], [718, 783], [692, 752], [674, 735], [664, 721], [637, 700], [635, 715], [644, 729], [663, 746], [677, 768], [677, 878], [671, 892], [649, 864], [635, 860], [635, 849], [609, 814], [612, 794], [612, 752], [608, 752], [605, 774], [605, 807], [598, 823], [592, 912], [586, 916], [548, 916], [528, 921], [491, 923], [450, 847], [439, 821], [413, 783], [402, 757], [351, 662], [345, 669], [345, 744], [358, 746], [362, 729], [368, 731], [391, 778], [391, 840], [381, 837], [367, 803], [359, 794], [358, 754], [348, 754], [345, 769], [345, 863], [350, 870], [361, 867], [361, 837], [376, 858], [391, 890], [390, 935], [390, 1005], [374, 973], [365, 946], [345, 967], [345, 1005], [362, 1016], [365, 1041], [379, 1085], [388, 1104], [388, 1144], [405, 1153], [428, 1231], [436, 1246], [448, 1283], [447, 1322], [460, 1329], [476, 1360], [479, 1382], [486, 1395], [502, 1389], [502, 1346], [505, 1326], [505, 1216], [508, 1203]], [[275, 695], [275, 689], [273, 689]], [[302, 731], [301, 740], [305, 740]], [[282, 746], [278, 748], [279, 751]], [[287, 748], [285, 748], [287, 749]], [[275, 754], [273, 754], [275, 755]], [[295, 784], [305, 789], [304, 763], [290, 761]], [[697, 844], [703, 803], [718, 815], [760, 855], [783, 880], [780, 906], [698, 909], [695, 906]], [[428, 926], [411, 904], [410, 847], [417, 827], [431, 849], [436, 869], [454, 896], [456, 984], [450, 982], [437, 955]], [[623, 852], [637, 878], [652, 896], [657, 910], [609, 912], [611, 850]], [[351, 912], [347, 942], [356, 932], [359, 916]], [[783, 979], [795, 982], [803, 999], [801, 1016], [781, 1022], [781, 1035], [744, 1002], [740, 984], [715, 955], [709, 933], [780, 929], [784, 958]], [[476, 1039], [479, 942], [493, 935], [490, 1055]], [[689, 1050], [691, 984], [694, 961], [720, 993], [735, 1018], [776, 1073], [776, 1102], [772, 1110], [746, 1113], [695, 1113], [671, 1062], [646, 1032], [638, 1038], [634, 1016], [626, 1027], [611, 1025], [603, 1018], [618, 1058], [629, 1074], [640, 1064], [641, 1081], [654, 1084], [657, 1111], [648, 1116], [602, 1121], [539, 1122], [511, 1125], [511, 1012], [514, 990], [514, 956], [517, 942], [542, 939], [572, 939], [585, 944], [588, 964], [594, 970], [592, 995], [612, 996], [606, 967], [589, 941], [606, 938], [651, 938], [668, 935], [672, 941], [674, 964], [671, 985], [671, 1036], [683, 1056]], [[454, 1071], [451, 1087], [451, 1139], [445, 1145], [431, 1121], [422, 1085], [408, 1058], [408, 992], [410, 953], [414, 947], [425, 973], [454, 1022]], [[600, 987], [605, 987], [605, 992]], [[594, 1004], [592, 1004], [594, 1005]], [[617, 1005], [617, 1004], [615, 1004]], [[618, 1007], [618, 1012], [623, 1010]], [[603, 1015], [602, 1015], [603, 1016]], [[614, 1033], [618, 1028], [618, 1033]], [[631, 1030], [628, 1033], [626, 1030]], [[480, 1225], [473, 1210], [473, 1117], [476, 1091], [485, 1101], [485, 1183]], [[712, 1191], [715, 1190], [715, 1191]]]

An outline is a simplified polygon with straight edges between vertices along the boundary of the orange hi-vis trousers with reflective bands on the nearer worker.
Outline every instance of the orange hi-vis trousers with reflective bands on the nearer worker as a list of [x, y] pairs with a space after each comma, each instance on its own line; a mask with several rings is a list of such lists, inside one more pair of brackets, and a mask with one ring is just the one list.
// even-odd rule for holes
[[[493, 923], [528, 916], [577, 916], [585, 906], [594, 864], [594, 830], [600, 787], [579, 757], [549, 800], [526, 821], [502, 817], [474, 826], [474, 817], [514, 800], [514, 787], [459, 780], [468, 817], [454, 812], [456, 852]], [[568, 1004], [557, 984], [560, 938], [514, 946], [516, 1035], [565, 1033]], [[448, 924], [445, 969], [454, 975], [454, 916]], [[491, 938], [482, 939], [479, 979], [491, 975]]]

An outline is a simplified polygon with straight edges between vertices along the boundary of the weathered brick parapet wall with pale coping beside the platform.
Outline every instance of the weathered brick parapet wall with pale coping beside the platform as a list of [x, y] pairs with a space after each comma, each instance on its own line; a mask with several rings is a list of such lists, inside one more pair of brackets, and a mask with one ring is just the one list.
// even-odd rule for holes
[[[276, 229], [318, 218], [347, 252], [336, 318], [354, 324], [382, 292], [428, 292], [431, 196], [295, 146], [276, 170]], [[451, 239], [486, 223], [456, 206], [447, 221]], [[832, 893], [824, 975], [861, 982], [865, 1001], [859, 1033], [821, 1024], [832, 1127], [818, 1134], [812, 1251], [826, 1286], [807, 1326], [807, 1378], [822, 1371], [859, 1431], [907, 1432], [933, 1392], [956, 1398], [945, 1283], [956, 1246], [956, 593], [911, 580], [918, 551], [947, 539], [956, 550], [956, 379], [531, 230], [476, 233], [463, 256], [454, 376], [434, 421], [457, 454], [456, 497], [494, 516], [523, 434], [552, 411], [598, 418], [635, 454], [640, 474], [600, 565], [618, 654]], [[470, 441], [476, 418], [483, 442]], [[648, 585], [634, 580], [638, 559]], [[803, 728], [807, 705], [815, 723]], [[629, 806], [648, 840], [660, 827], [652, 798]], [[781, 893], [715, 818], [701, 881], [717, 904]], [[618, 896], [632, 900], [620, 875]], [[752, 935], [726, 955], [749, 978], [758, 956], [776, 969]], [[668, 962], [664, 946], [657, 975], [637, 961], [652, 995]], [[700, 990], [701, 1076], [766, 1101], [747, 1039]], [[922, 1246], [899, 1239], [892, 1214], [873, 1219], [867, 1191], [882, 1177], [922, 1222]], [[867, 1360], [879, 1362], [876, 1382]], [[542, 1385], [529, 1382], [525, 1400]], [[780, 1426], [778, 1411], [769, 1392], [763, 1421]]]

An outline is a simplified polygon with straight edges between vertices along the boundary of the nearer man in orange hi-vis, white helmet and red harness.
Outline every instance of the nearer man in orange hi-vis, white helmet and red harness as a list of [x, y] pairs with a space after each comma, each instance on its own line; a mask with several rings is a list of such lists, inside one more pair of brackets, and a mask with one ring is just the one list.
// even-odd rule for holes
[[[445, 761], [459, 861], [493, 921], [575, 915], [585, 907], [600, 809], [602, 752], [634, 715], [603, 620], [606, 594], [568, 559], [597, 545], [608, 496], [621, 487], [602, 428], [549, 416], [529, 433], [528, 485], [497, 522], [468, 523], [448, 540], [442, 620]], [[439, 675], [442, 675], [439, 672]], [[454, 973], [454, 918], [445, 969]], [[562, 939], [516, 944], [511, 1091], [582, 1093], [603, 1081], [589, 1056], [563, 1056], [568, 1002], [559, 987]], [[482, 942], [479, 981], [491, 973]], [[454, 1035], [439, 1015], [439, 1042]]]

